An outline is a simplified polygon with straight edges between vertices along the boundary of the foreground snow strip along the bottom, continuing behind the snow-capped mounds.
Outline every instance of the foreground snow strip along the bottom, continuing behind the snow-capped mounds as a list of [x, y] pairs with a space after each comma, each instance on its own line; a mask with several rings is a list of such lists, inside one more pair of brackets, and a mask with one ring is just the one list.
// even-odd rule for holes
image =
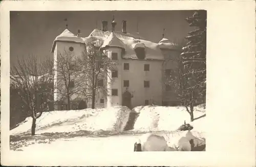
[[[154, 134], [162, 135], [167, 141], [169, 147], [174, 147], [178, 144], [178, 140], [187, 136], [187, 131], [185, 132], [152, 132]], [[202, 135], [192, 131], [192, 134], [196, 137], [201, 138]], [[69, 152], [81, 152], [84, 150], [89, 151], [99, 151], [99, 152], [109, 152], [114, 151], [124, 151], [133, 152], [134, 143], [137, 138], [143, 137], [144, 134], [120, 134], [111, 135], [108, 137], [101, 136], [78, 136], [72, 138], [59, 138], [53, 141], [43, 141], [37, 142], [36, 140], [30, 141], [30, 145], [24, 145], [18, 148], [22, 151], [69, 151]], [[186, 142], [186, 141], [185, 141]]]

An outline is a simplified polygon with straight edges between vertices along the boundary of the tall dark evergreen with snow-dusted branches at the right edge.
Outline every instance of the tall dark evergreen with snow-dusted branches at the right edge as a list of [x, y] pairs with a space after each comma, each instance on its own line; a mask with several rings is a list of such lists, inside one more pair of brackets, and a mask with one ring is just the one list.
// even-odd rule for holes
[[[188, 41], [182, 48], [182, 62], [184, 70], [191, 73], [189, 77], [197, 82], [205, 82], [206, 78], [206, 23], [207, 13], [204, 10], [196, 11], [193, 16], [187, 17], [190, 27], [196, 27], [188, 33], [185, 39]], [[199, 84], [198, 83], [198, 84]]]

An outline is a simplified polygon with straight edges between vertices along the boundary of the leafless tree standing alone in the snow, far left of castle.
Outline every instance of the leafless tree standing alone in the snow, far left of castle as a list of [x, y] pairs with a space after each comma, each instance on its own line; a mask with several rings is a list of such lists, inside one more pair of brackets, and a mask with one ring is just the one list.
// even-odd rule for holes
[[49, 68], [46, 61], [38, 60], [36, 56], [28, 56], [27, 59], [17, 61], [17, 65], [11, 67], [10, 84], [18, 90], [21, 102], [29, 110], [29, 115], [33, 118], [31, 135], [35, 135], [36, 119], [42, 112], [49, 111], [49, 106], [44, 103], [45, 85], [50, 83]]

